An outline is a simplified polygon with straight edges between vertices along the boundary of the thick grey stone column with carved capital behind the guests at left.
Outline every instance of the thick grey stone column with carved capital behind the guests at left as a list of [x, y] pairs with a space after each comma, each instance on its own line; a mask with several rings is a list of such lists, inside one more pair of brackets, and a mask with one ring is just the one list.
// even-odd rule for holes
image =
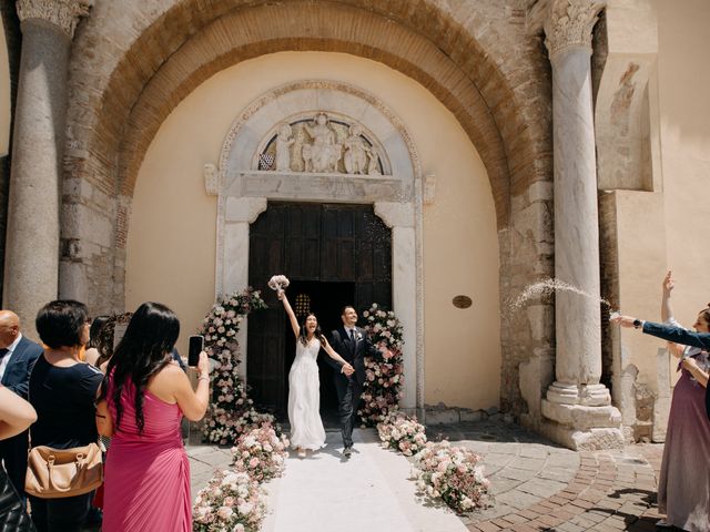
[[34, 316], [57, 298], [60, 198], [71, 40], [83, 0], [19, 0], [22, 30], [8, 209], [3, 307], [34, 337]]

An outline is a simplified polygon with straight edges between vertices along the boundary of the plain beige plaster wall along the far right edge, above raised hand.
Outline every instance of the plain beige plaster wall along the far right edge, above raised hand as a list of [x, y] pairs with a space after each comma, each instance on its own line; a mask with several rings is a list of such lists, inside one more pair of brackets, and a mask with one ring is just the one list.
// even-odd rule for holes
[[706, 68], [710, 3], [653, 0], [653, 6], [659, 34], [667, 264], [678, 282], [673, 290], [677, 319], [691, 326], [698, 310], [710, 301], [704, 245], [710, 219], [710, 70]]

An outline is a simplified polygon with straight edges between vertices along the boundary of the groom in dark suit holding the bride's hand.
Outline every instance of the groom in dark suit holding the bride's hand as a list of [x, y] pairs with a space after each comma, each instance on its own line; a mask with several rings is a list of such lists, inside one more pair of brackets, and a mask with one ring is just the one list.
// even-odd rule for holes
[[343, 432], [343, 454], [346, 458], [353, 453], [353, 427], [357, 417], [357, 405], [365, 382], [365, 357], [375, 357], [382, 360], [382, 354], [373, 346], [365, 329], [357, 327], [357, 313], [352, 306], [343, 307], [341, 313], [343, 326], [331, 332], [331, 346], [335, 351], [349, 362], [353, 370], [341, 368], [335, 360], [327, 358], [335, 369], [335, 390], [337, 391], [338, 413], [341, 417], [341, 431]]

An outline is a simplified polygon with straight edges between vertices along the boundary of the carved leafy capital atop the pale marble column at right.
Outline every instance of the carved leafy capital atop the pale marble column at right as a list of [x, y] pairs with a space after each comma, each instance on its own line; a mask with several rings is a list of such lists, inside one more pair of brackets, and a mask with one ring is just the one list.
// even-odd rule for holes
[[596, 0], [550, 0], [544, 23], [550, 61], [569, 47], [591, 52], [591, 30], [604, 7], [604, 1]]

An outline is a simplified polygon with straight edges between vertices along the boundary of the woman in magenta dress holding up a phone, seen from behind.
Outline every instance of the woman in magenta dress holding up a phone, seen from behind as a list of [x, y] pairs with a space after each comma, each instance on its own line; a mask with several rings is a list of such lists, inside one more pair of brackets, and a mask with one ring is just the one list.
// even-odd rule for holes
[[183, 416], [199, 421], [209, 401], [209, 360], [200, 355], [197, 389], [172, 361], [180, 332], [174, 313], [156, 303], [135, 311], [106, 368], [99, 430], [106, 454], [104, 532], [192, 530], [190, 462]]

